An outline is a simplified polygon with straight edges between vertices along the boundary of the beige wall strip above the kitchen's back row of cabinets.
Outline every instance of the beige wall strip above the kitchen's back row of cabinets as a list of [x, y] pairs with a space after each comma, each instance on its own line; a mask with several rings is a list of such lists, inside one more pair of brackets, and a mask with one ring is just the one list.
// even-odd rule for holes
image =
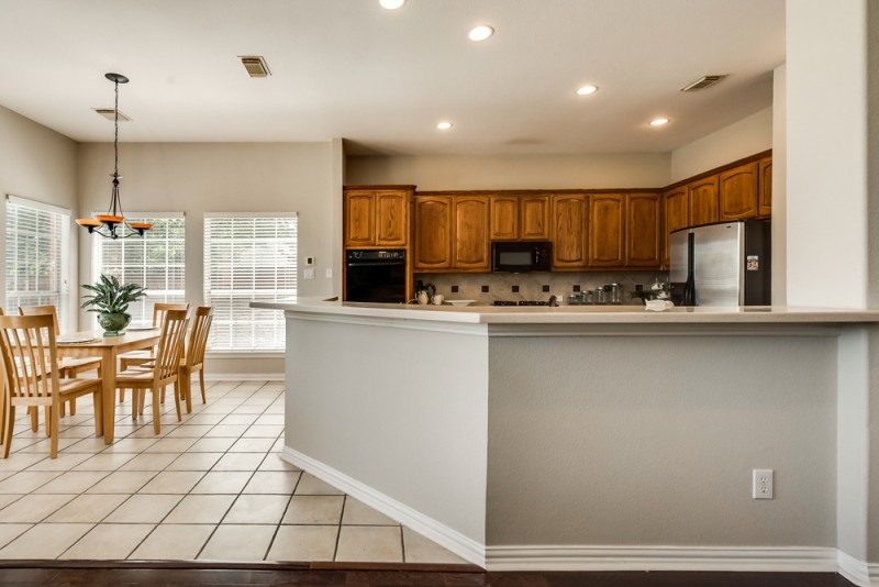
[[419, 190], [656, 188], [668, 153], [533, 156], [348, 157], [348, 185], [414, 184]]

